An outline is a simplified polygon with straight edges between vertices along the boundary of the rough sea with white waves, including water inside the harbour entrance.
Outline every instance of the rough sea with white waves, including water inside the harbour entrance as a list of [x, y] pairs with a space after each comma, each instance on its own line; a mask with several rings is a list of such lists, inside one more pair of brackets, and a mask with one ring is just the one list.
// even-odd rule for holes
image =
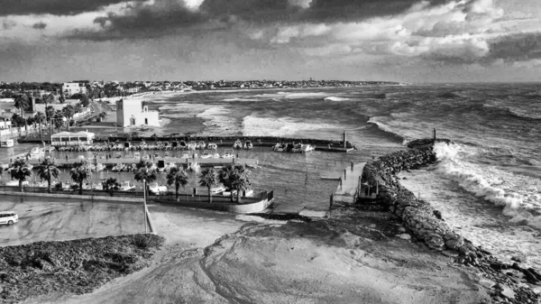
[[[151, 102], [172, 121], [201, 119], [200, 134], [339, 139], [348, 154], [270, 153], [254, 174], [277, 189], [280, 207], [325, 207], [349, 161], [437, 137], [439, 162], [407, 173], [405, 185], [444, 211], [447, 223], [509, 259], [541, 265], [541, 85], [456, 84], [269, 89], [180, 95]], [[177, 130], [182, 133], [182, 130]], [[338, 162], [336, 162], [338, 161]]]

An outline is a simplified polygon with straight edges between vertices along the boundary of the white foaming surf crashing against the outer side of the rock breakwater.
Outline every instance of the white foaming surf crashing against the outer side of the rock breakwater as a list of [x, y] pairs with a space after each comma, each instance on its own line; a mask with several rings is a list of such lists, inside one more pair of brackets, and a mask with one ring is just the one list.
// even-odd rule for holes
[[541, 217], [537, 214], [541, 210], [538, 200], [541, 180], [466, 161], [475, 152], [458, 144], [436, 143], [434, 150], [440, 161], [438, 172], [475, 196], [503, 207], [503, 214], [512, 217], [510, 221], [541, 228]]

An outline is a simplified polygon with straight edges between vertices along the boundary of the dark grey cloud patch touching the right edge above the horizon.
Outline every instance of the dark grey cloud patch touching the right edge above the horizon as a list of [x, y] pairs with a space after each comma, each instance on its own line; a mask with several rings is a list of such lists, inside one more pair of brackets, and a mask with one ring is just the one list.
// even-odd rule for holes
[[522, 61], [541, 59], [541, 32], [502, 36], [491, 41], [491, 60]]

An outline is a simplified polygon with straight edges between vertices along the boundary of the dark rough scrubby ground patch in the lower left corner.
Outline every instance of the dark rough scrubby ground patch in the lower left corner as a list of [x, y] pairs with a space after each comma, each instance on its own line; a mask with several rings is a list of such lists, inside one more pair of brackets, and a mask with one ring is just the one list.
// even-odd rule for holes
[[127, 235], [0, 247], [0, 303], [90, 292], [147, 266], [162, 242], [158, 235]]

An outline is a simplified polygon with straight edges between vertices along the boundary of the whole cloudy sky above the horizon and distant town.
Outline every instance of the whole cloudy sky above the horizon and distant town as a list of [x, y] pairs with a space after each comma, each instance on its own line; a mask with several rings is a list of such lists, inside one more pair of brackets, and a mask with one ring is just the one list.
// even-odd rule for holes
[[0, 81], [541, 80], [539, 0], [0, 0]]

